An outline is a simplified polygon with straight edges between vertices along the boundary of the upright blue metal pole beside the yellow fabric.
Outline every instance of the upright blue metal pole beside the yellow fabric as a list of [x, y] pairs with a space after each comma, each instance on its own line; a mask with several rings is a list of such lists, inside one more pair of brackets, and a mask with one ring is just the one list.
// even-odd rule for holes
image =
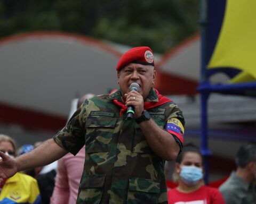
[[[207, 54], [207, 1], [201, 0], [201, 79], [200, 86], [204, 86], [209, 83], [206, 72], [206, 54]], [[204, 157], [204, 181], [205, 184], [209, 184], [209, 165], [208, 158], [211, 155], [208, 149], [208, 120], [207, 120], [207, 100], [209, 98], [208, 90], [201, 90], [201, 152]]]

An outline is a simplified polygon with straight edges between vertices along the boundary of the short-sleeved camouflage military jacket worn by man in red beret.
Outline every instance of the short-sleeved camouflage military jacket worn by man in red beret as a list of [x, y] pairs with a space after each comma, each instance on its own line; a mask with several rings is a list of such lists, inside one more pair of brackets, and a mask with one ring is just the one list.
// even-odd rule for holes
[[[85, 145], [77, 203], [167, 204], [165, 161], [151, 150], [140, 126], [134, 120], [126, 120], [126, 114], [120, 116], [121, 108], [112, 100], [121, 101], [121, 97], [117, 90], [86, 100], [54, 136], [61, 147], [74, 155]], [[145, 101], [158, 101], [154, 89]], [[148, 111], [163, 129], [169, 118], [185, 123], [173, 102]]]

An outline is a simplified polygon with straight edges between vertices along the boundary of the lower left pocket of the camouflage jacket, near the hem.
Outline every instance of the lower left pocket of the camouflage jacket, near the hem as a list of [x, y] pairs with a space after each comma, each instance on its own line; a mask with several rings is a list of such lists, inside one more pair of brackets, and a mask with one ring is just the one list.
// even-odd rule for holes
[[85, 175], [80, 184], [77, 203], [99, 204], [106, 175]]

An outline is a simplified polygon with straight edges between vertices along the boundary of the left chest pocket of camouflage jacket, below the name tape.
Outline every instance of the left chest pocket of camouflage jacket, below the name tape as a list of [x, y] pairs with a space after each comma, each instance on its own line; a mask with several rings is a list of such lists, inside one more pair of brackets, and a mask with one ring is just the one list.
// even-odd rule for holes
[[116, 118], [106, 116], [88, 117], [86, 121], [86, 153], [107, 152], [116, 126]]

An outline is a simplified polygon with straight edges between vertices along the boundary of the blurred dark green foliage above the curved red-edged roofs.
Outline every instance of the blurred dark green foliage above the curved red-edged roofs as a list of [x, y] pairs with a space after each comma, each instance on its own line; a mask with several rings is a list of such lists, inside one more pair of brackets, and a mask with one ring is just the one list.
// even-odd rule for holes
[[199, 0], [1, 0], [0, 37], [59, 30], [163, 53], [198, 32]]

